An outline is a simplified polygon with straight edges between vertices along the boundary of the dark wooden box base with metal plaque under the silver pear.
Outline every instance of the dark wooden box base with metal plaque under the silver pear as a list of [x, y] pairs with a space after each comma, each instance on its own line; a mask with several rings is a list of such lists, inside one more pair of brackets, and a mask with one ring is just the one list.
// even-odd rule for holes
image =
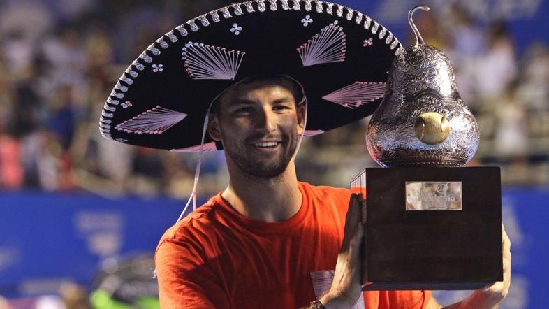
[[503, 280], [498, 167], [366, 168], [363, 290], [478, 289]]

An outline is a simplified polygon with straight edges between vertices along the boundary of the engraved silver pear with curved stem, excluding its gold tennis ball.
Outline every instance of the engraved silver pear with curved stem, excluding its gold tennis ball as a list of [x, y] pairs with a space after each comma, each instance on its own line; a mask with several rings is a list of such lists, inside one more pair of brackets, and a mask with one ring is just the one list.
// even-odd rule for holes
[[[384, 167], [463, 166], [478, 148], [478, 125], [457, 92], [450, 60], [426, 45], [413, 24], [411, 16], [418, 8], [429, 10], [416, 6], [409, 12], [416, 45], [405, 48], [393, 61], [385, 99], [368, 125], [367, 148]], [[415, 129], [424, 113], [446, 117], [450, 129], [440, 138], [443, 141], [432, 145], [418, 136]]]

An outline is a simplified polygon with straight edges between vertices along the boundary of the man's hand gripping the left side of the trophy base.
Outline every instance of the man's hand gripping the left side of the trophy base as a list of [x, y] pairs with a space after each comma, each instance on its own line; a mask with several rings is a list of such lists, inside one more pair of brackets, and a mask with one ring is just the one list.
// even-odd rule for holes
[[351, 308], [362, 292], [360, 245], [364, 235], [362, 194], [351, 194], [345, 218], [342, 247], [337, 255], [334, 280], [330, 291], [320, 301], [327, 309]]

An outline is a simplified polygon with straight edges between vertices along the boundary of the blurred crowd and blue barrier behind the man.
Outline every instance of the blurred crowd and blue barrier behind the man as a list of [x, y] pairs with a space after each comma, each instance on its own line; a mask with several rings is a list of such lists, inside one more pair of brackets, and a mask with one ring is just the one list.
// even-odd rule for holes
[[[98, 134], [117, 78], [152, 41], [216, 0], [0, 0], [0, 309], [157, 308], [152, 254], [189, 196], [198, 159]], [[412, 0], [340, 0], [403, 45]], [[476, 115], [471, 166], [501, 166], [513, 282], [500, 308], [549, 295], [548, 0], [430, 0], [416, 24], [450, 57]], [[300, 180], [349, 185], [375, 166], [368, 119], [307, 138]], [[206, 154], [200, 201], [227, 184]], [[441, 303], [468, 292], [436, 292]]]

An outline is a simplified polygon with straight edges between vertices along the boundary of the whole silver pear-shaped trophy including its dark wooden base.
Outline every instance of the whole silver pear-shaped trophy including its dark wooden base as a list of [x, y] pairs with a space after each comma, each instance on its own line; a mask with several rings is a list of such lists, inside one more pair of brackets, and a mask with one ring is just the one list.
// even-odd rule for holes
[[460, 167], [478, 148], [474, 116], [444, 52], [416, 45], [395, 57], [367, 129], [383, 168], [351, 182], [366, 196], [363, 290], [478, 289], [503, 280], [497, 167]]

